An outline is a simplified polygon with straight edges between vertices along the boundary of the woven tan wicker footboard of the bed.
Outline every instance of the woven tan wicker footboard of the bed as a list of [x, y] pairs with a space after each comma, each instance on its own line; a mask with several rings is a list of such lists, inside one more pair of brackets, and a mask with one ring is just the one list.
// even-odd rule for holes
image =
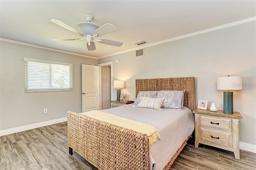
[[68, 146], [100, 170], [149, 170], [148, 136], [71, 111]]

